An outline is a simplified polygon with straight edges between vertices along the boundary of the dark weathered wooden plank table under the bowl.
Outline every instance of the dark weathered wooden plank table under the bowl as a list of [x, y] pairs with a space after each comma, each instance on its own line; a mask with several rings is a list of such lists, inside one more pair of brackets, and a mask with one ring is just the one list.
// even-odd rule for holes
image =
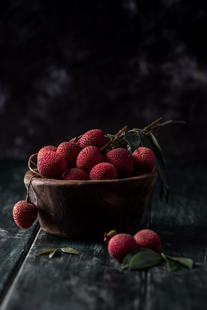
[[[192, 258], [192, 270], [165, 265], [128, 271], [109, 257], [103, 241], [49, 235], [36, 221], [23, 230], [13, 205], [26, 197], [27, 160], [0, 160], [0, 310], [199, 310], [207, 306], [207, 166], [167, 164], [169, 202], [158, 182], [139, 229], [155, 230], [161, 251]], [[80, 255], [37, 256], [45, 249], [75, 248]]]

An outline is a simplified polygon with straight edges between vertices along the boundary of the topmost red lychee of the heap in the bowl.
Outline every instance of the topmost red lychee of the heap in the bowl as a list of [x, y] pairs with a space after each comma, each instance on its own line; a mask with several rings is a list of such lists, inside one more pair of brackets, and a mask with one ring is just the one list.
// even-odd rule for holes
[[81, 148], [95, 146], [98, 149], [101, 149], [105, 145], [104, 132], [101, 129], [91, 129], [82, 135], [78, 140], [78, 144]]

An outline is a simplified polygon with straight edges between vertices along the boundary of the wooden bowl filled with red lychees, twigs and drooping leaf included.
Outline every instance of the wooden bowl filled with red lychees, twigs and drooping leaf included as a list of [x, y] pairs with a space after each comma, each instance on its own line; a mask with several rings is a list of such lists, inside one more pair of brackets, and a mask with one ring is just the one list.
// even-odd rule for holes
[[137, 231], [157, 174], [168, 195], [164, 157], [153, 135], [158, 121], [116, 135], [92, 129], [42, 147], [29, 158], [27, 198], [13, 207], [16, 224], [28, 228], [38, 217], [43, 230], [69, 238]]

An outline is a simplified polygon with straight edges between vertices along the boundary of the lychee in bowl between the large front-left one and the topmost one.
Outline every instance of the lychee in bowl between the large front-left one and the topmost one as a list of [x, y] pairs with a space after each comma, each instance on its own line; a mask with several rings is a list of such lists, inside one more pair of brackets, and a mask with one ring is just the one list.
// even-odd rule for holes
[[69, 141], [60, 143], [56, 152], [65, 158], [68, 167], [72, 167], [81, 150], [82, 148], [77, 143]]

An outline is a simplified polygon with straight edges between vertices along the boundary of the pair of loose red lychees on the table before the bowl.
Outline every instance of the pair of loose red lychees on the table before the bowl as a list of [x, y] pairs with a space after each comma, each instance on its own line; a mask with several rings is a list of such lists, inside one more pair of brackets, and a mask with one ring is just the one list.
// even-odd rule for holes
[[[109, 236], [108, 240], [107, 236]], [[127, 233], [117, 234], [116, 231], [111, 231], [105, 234], [104, 241], [108, 243], [109, 255], [119, 262], [122, 262], [127, 254], [137, 249], [147, 248], [159, 252], [161, 248], [161, 240], [158, 234], [151, 229], [142, 229], [134, 236]]]

